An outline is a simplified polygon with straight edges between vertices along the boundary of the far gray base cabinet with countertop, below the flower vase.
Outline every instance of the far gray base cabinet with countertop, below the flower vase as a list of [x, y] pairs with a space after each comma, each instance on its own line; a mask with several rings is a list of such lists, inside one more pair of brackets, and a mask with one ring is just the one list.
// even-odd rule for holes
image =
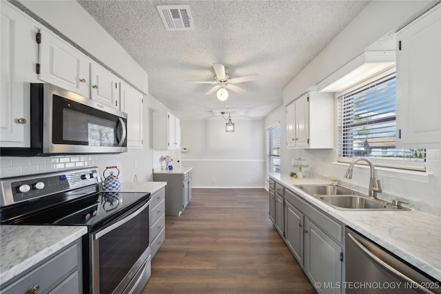
[[165, 186], [165, 215], [180, 216], [192, 195], [191, 171], [179, 173], [154, 173], [154, 182], [167, 182]]

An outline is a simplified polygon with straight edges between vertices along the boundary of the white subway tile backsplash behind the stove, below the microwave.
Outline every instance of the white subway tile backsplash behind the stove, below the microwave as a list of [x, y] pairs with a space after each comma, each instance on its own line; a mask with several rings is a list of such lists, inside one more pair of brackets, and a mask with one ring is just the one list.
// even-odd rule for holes
[[[63, 169], [81, 167], [99, 167], [100, 176], [103, 176], [105, 167], [122, 167], [121, 154], [96, 154], [75, 156], [48, 156], [48, 157], [1, 157], [0, 178], [10, 176], [24, 176], [30, 174], [43, 174]], [[122, 180], [123, 173], [119, 178]]]

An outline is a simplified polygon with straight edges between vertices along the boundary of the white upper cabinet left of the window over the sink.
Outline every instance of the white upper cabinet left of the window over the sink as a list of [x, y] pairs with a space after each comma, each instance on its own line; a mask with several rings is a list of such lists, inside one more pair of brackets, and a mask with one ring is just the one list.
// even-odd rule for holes
[[287, 106], [288, 148], [334, 147], [333, 95], [308, 92]]

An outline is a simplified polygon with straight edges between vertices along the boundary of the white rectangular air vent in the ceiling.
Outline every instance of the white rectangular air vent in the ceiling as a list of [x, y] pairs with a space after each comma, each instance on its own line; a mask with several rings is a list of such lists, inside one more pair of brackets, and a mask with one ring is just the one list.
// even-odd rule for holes
[[188, 5], [158, 5], [156, 6], [165, 30], [194, 30], [192, 12]]

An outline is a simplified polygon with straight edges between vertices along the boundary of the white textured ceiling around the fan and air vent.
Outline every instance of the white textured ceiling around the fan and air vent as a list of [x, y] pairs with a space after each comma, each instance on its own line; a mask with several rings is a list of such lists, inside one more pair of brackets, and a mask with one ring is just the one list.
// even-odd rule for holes
[[[180, 118], [263, 118], [283, 103], [283, 87], [345, 28], [367, 1], [78, 1], [141, 65], [149, 92]], [[189, 5], [194, 30], [166, 31], [156, 5]], [[116, 56], [117, 57], [117, 56]], [[213, 63], [232, 77], [258, 74], [237, 84], [220, 102]]]

